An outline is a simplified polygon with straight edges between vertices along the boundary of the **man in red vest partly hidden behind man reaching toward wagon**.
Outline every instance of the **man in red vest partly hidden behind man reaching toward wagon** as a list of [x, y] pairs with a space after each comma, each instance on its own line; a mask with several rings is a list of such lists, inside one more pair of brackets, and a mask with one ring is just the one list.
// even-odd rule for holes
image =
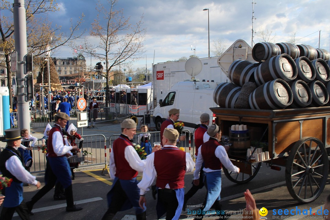
[[[195, 157], [196, 158], [197, 158], [197, 155], [198, 155], [198, 148], [204, 143], [203, 137], [204, 137], [204, 134], [207, 132], [208, 126], [210, 124], [210, 115], [208, 113], [201, 114], [200, 121], [201, 121], [201, 124], [199, 125], [199, 127], [194, 132]], [[203, 173], [204, 173], [203, 172], [203, 168], [204, 168], [204, 166], [202, 165], [201, 172], [199, 174], [199, 180], [200, 180], [199, 181], [199, 185], [196, 186], [196, 185], [192, 184], [192, 186], [189, 189], [189, 191], [184, 195], [183, 210], [185, 210], [185, 208], [186, 208], [187, 201], [193, 195], [195, 195], [195, 193], [199, 189], [202, 189], [203, 186], [204, 186], [204, 183], [203, 183]]]

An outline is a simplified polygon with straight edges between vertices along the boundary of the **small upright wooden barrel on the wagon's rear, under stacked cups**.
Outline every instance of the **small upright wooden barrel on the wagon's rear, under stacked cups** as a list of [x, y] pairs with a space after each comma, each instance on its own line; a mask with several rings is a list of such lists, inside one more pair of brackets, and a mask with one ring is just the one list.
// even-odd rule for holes
[[230, 143], [232, 146], [229, 148], [231, 155], [246, 156], [248, 148], [250, 148], [250, 136], [248, 130], [246, 131], [230, 131]]

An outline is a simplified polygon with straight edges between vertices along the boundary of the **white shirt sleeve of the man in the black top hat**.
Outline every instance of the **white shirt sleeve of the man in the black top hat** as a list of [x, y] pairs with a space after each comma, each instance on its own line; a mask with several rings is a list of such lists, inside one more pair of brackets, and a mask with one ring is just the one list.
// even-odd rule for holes
[[22, 162], [17, 156], [11, 156], [5, 162], [6, 169], [13, 174], [19, 181], [24, 183], [37, 185], [36, 177], [31, 175], [22, 165]]

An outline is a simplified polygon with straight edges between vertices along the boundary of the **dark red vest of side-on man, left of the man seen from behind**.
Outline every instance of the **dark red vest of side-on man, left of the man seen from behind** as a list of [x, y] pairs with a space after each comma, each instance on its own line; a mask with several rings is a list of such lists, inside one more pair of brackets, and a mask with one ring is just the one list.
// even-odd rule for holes
[[138, 175], [138, 172], [133, 170], [125, 159], [125, 148], [129, 145], [132, 143], [125, 135], [120, 135], [112, 145], [116, 165], [115, 176], [123, 180], [131, 180]]

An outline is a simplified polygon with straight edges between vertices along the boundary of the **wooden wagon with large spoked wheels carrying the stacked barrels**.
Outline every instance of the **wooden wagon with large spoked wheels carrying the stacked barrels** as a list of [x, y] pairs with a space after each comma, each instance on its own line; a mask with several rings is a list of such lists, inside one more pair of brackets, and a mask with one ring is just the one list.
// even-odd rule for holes
[[[330, 107], [287, 110], [210, 109], [216, 115], [222, 136], [230, 135], [232, 125], [244, 124], [248, 126], [252, 142], [266, 143], [269, 159], [262, 162], [275, 169], [285, 167], [286, 185], [294, 199], [310, 203], [322, 193], [328, 177]], [[241, 171], [237, 174], [223, 169], [225, 175], [235, 183], [250, 181], [261, 166], [261, 162], [253, 162], [246, 155], [229, 154], [229, 158]]]

